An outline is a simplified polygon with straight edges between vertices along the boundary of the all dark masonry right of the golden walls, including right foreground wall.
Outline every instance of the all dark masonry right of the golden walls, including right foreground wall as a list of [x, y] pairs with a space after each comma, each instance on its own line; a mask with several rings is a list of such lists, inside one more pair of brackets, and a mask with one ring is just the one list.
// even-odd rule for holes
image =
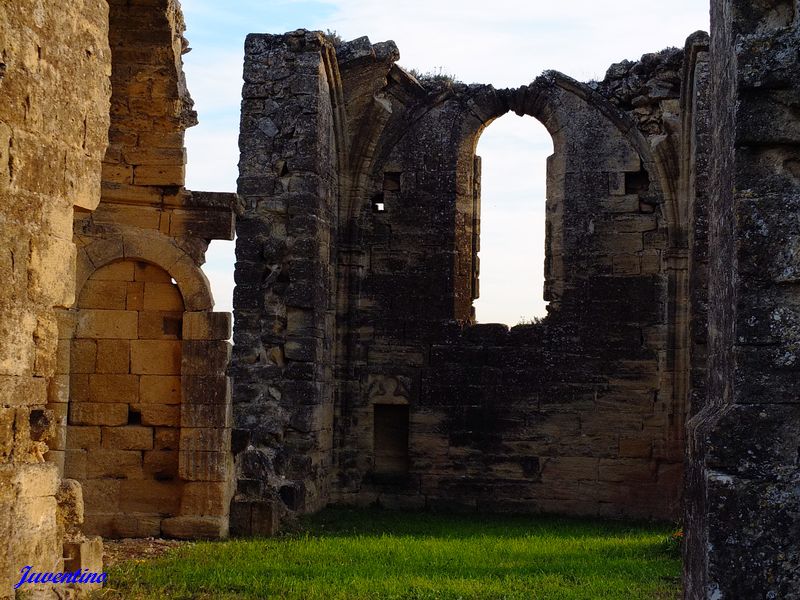
[[[714, 0], [710, 38], [507, 90], [248, 36], [231, 530], [329, 502], [683, 513], [687, 598], [800, 597], [798, 12]], [[511, 329], [472, 308], [475, 148], [508, 111], [554, 145], [549, 314]]]

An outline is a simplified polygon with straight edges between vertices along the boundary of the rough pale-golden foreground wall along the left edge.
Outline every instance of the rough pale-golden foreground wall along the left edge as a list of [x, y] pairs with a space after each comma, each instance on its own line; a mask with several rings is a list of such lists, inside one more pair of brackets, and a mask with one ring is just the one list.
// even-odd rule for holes
[[[55, 309], [74, 300], [73, 205], [91, 209], [100, 200], [111, 57], [101, 0], [3, 3], [0, 31], [0, 597], [6, 598], [23, 566], [60, 571], [65, 539], [80, 539], [74, 529], [82, 519], [80, 488], [62, 485], [56, 465], [42, 457], [61, 417], [45, 405], [48, 388], [59, 381]], [[99, 566], [77, 558], [73, 568]]]

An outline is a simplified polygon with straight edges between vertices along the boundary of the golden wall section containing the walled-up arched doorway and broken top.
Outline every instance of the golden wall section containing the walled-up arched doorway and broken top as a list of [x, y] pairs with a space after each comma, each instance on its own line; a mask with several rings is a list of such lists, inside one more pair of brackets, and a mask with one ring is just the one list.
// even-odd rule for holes
[[75, 214], [80, 297], [63, 315], [51, 455], [86, 484], [93, 532], [225, 536], [230, 315], [212, 312], [200, 267], [211, 240], [233, 238], [237, 199], [183, 185], [197, 119], [177, 2], [109, 8], [109, 146], [101, 202]]

